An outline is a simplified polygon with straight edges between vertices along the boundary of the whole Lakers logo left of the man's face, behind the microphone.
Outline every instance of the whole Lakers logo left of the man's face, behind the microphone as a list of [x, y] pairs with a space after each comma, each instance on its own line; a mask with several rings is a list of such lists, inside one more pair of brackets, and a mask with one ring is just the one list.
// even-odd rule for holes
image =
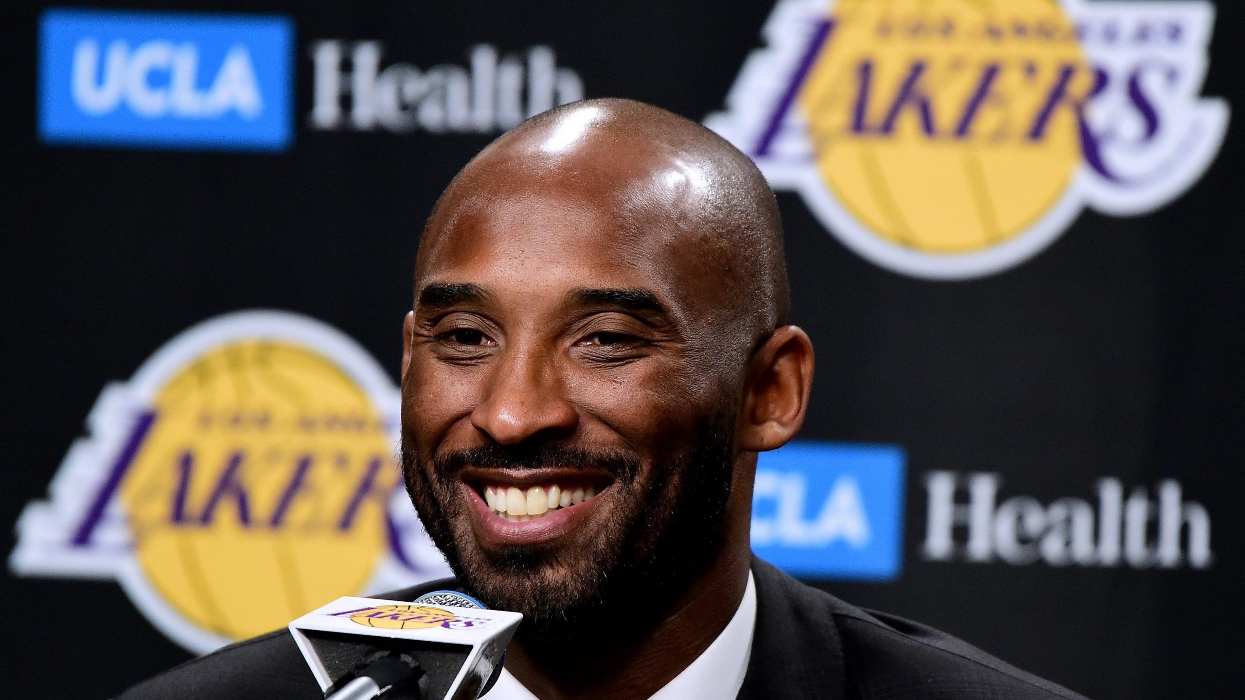
[[54, 501], [19, 522], [11, 565], [115, 577], [195, 651], [442, 574], [416, 564], [431, 547], [396, 516], [410, 511], [396, 407], [375, 361], [324, 324], [275, 311], [200, 324], [103, 392]]

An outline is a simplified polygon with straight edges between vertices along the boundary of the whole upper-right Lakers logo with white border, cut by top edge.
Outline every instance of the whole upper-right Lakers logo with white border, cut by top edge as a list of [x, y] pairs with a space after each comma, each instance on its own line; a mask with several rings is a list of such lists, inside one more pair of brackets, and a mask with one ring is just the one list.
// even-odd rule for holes
[[1206, 1], [779, 0], [706, 125], [848, 248], [930, 279], [1180, 197], [1229, 120]]

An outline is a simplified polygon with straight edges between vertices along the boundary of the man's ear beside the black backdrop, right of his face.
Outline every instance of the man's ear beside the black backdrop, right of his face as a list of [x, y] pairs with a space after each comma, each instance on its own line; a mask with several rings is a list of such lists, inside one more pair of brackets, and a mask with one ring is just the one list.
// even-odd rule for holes
[[778, 328], [748, 362], [740, 448], [764, 452], [796, 437], [804, 425], [812, 389], [813, 341], [797, 326]]

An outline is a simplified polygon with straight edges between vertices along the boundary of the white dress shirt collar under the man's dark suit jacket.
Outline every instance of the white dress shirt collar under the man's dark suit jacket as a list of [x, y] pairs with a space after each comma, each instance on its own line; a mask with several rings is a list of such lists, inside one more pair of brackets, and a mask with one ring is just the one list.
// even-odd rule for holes
[[[735, 698], [752, 656], [752, 629], [757, 622], [757, 585], [748, 572], [748, 587], [731, 622], [686, 669], [654, 693], [649, 700], [722, 700]], [[481, 700], [539, 700], [510, 671], [502, 675]]]

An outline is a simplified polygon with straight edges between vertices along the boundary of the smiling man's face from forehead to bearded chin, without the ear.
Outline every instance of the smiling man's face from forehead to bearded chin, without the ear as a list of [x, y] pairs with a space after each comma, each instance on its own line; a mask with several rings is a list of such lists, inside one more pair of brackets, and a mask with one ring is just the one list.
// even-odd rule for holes
[[466, 206], [417, 272], [407, 488], [463, 583], [550, 635], [679, 590], [732, 478], [741, 370], [721, 367], [713, 280], [686, 237], [610, 210]]

